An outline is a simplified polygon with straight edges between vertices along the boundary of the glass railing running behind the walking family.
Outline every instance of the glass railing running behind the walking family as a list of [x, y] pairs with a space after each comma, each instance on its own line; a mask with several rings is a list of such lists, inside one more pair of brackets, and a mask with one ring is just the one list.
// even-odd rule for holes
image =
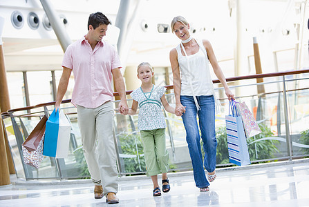
[[[256, 78], [263, 78], [256, 83]], [[262, 133], [247, 139], [252, 164], [291, 160], [309, 156], [309, 70], [277, 72], [227, 79], [236, 101], [247, 104], [254, 114]], [[217, 167], [232, 166], [229, 163], [225, 115], [228, 115], [228, 100], [224, 89], [214, 81], [217, 97], [224, 112], [216, 116]], [[167, 100], [174, 106], [174, 91], [167, 86]], [[127, 92], [129, 94], [130, 92]], [[115, 95], [117, 95], [115, 93]], [[221, 98], [220, 98], [221, 97]], [[131, 106], [131, 99], [128, 104]], [[115, 108], [118, 101], [115, 102]], [[24, 164], [21, 144], [44, 115], [49, 115], [55, 102], [42, 103], [28, 108], [3, 112], [3, 125], [10, 143], [17, 177], [25, 179], [71, 179], [89, 177], [82, 152], [82, 141], [77, 125], [77, 111], [65, 100], [62, 110], [71, 121], [71, 138], [68, 158], [44, 157], [39, 169]], [[162, 110], [167, 121], [166, 141], [169, 151], [171, 172], [191, 170], [191, 159], [186, 132], [181, 117]], [[140, 132], [137, 128], [138, 115], [123, 116], [115, 110], [115, 139], [117, 143], [118, 170], [122, 175], [144, 174], [145, 162]]]

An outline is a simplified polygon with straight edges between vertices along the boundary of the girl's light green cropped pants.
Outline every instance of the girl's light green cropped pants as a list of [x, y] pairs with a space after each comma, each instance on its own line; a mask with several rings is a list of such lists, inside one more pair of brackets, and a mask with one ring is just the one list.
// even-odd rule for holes
[[169, 170], [169, 152], [165, 146], [165, 128], [141, 130], [142, 145], [146, 161], [147, 176], [158, 175]]

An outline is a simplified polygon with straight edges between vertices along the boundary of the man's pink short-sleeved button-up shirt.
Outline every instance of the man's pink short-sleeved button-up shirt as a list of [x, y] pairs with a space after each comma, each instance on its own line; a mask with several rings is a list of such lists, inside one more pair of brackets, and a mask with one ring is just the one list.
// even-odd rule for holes
[[113, 101], [111, 70], [121, 68], [115, 48], [100, 41], [92, 50], [84, 38], [66, 49], [62, 67], [73, 70], [75, 85], [72, 94], [74, 105], [97, 108], [106, 101]]

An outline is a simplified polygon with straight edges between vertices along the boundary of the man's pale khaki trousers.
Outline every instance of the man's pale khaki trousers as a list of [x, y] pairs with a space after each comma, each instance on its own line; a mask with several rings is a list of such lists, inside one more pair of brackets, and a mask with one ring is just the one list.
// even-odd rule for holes
[[97, 108], [77, 106], [84, 157], [93, 183], [102, 184], [104, 195], [118, 192], [118, 170], [113, 139], [113, 102]]

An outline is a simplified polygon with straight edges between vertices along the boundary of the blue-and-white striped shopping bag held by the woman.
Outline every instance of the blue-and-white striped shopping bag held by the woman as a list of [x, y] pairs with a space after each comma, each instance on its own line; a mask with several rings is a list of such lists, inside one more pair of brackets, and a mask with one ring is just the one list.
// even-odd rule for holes
[[[236, 110], [234, 100], [230, 101], [229, 104], [229, 115], [225, 116], [229, 159], [233, 164], [245, 166], [250, 164], [250, 157], [245, 130], [243, 129], [243, 121], [241, 115]], [[232, 110], [232, 115], [230, 110]]]

